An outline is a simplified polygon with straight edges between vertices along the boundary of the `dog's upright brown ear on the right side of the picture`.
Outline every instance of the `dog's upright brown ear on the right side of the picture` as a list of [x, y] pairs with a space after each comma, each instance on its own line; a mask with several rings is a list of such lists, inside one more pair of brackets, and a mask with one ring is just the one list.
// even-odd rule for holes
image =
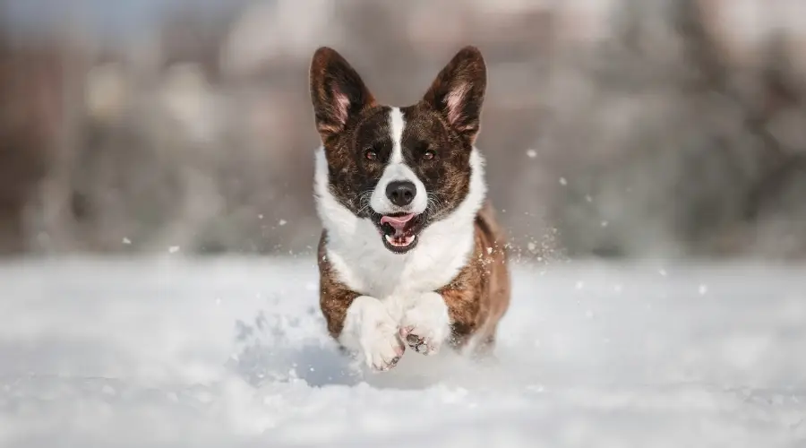
[[460, 135], [473, 144], [479, 130], [487, 69], [476, 47], [464, 47], [433, 80], [424, 102], [442, 113]]

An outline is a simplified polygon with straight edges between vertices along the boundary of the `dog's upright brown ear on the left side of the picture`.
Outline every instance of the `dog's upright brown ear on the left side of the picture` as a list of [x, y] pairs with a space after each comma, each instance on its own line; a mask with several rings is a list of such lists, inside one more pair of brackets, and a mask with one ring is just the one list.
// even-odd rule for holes
[[375, 104], [361, 76], [333, 48], [320, 47], [311, 62], [311, 101], [322, 142], [344, 131], [349, 119]]

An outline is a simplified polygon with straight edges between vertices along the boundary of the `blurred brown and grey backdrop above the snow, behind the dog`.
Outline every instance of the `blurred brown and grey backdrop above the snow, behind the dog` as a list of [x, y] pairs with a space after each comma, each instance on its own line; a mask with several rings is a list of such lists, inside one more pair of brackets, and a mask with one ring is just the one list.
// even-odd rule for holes
[[516, 258], [806, 255], [800, 0], [4, 0], [0, 254], [311, 254], [313, 50], [467, 44]]

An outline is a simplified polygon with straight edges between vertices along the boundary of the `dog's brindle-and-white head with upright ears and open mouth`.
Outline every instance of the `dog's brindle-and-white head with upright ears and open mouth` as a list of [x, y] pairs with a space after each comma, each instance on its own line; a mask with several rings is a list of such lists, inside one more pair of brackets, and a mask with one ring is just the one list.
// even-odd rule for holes
[[423, 99], [405, 108], [377, 103], [356, 70], [328, 47], [313, 55], [310, 82], [330, 194], [372, 220], [391, 252], [408, 252], [424, 228], [469, 194], [484, 58], [476, 47], [463, 48]]

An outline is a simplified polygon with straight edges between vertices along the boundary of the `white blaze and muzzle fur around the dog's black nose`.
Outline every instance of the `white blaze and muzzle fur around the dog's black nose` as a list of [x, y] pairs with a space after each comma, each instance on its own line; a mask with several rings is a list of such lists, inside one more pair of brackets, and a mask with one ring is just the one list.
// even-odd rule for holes
[[[403, 119], [403, 113], [400, 112], [400, 108], [391, 108], [389, 122], [392, 152], [389, 158], [389, 164], [383, 169], [381, 180], [378, 182], [378, 185], [375, 186], [373, 195], [370, 197], [370, 206], [374, 211], [380, 214], [399, 211], [416, 214], [422, 213], [425, 211], [425, 207], [428, 204], [428, 197], [425, 193], [425, 185], [423, 185], [423, 182], [403, 160], [402, 140], [403, 128], [406, 126], [406, 122]], [[386, 186], [389, 185], [390, 182], [395, 181], [409, 181], [416, 187], [415, 198], [407, 207], [398, 207], [386, 196]]]

